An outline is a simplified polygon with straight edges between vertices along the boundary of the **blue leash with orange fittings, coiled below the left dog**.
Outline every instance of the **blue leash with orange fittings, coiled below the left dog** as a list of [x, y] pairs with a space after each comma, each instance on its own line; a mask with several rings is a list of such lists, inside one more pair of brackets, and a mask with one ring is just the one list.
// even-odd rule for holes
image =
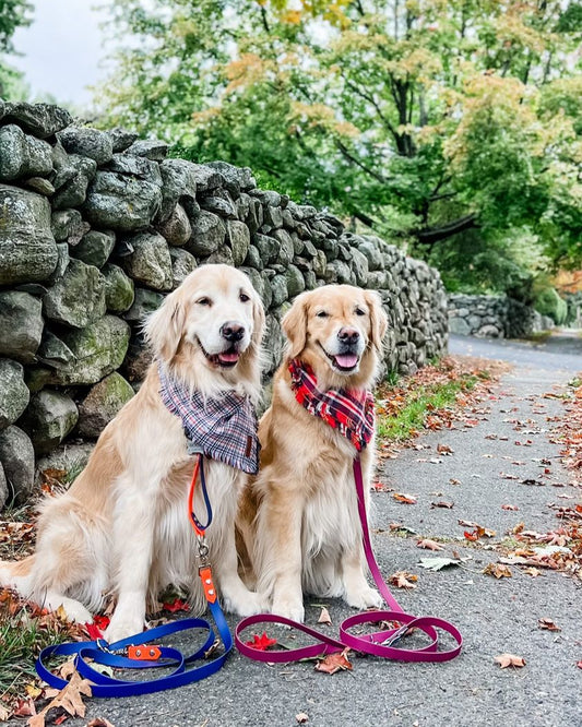
[[[205, 543], [205, 531], [212, 522], [212, 509], [204, 477], [203, 454], [197, 452], [197, 462], [192, 474], [192, 481], [188, 494], [188, 517], [194, 528], [198, 539], [198, 555], [200, 560], [199, 575], [209, 604], [209, 609], [214, 619], [218, 639], [222, 641], [224, 651], [213, 659], [210, 659], [217, 645], [216, 634], [205, 619], [192, 618], [181, 619], [165, 623], [164, 625], [149, 629], [133, 636], [108, 644], [104, 639], [90, 642], [68, 642], [48, 646], [40, 652], [36, 660], [36, 671], [40, 679], [50, 687], [63, 689], [68, 681], [56, 676], [46, 666], [49, 658], [55, 656], [75, 656], [75, 668], [79, 674], [88, 679], [93, 696], [135, 696], [138, 694], [151, 694], [165, 689], [183, 687], [201, 679], [205, 679], [221, 669], [233, 648], [233, 637], [226, 623], [223, 610], [218, 603], [216, 588], [214, 587], [212, 570], [209, 562], [209, 548]], [[206, 522], [201, 524], [193, 512], [193, 496], [195, 482], [200, 474], [202, 497], [206, 506]], [[204, 644], [193, 654], [185, 656], [179, 649], [169, 646], [159, 646], [153, 642], [192, 629], [202, 630], [207, 633]], [[209, 659], [205, 664], [187, 668], [195, 662]], [[91, 663], [90, 663], [91, 662]], [[114, 669], [173, 669], [170, 674], [147, 679], [123, 680], [116, 679], [102, 674], [96, 667], [104, 665]]]

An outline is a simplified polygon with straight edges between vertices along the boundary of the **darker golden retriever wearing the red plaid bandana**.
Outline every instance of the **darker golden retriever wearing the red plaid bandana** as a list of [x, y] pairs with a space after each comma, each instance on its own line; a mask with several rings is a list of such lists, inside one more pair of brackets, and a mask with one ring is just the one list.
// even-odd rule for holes
[[[261, 469], [245, 488], [238, 521], [258, 591], [274, 613], [296, 621], [304, 620], [304, 591], [343, 597], [355, 608], [380, 607], [366, 581], [356, 449], [296, 401], [288, 366], [310, 366], [322, 391], [371, 388], [387, 315], [377, 294], [329, 285], [301, 294], [282, 324], [288, 348], [259, 425]], [[366, 493], [372, 465], [373, 439], [361, 452]]]

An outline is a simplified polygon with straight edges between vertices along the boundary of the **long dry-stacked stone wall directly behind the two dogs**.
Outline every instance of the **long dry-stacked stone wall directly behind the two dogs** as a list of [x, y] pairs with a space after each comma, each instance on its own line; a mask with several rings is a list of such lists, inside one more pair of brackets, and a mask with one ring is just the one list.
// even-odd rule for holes
[[35, 463], [83, 463], [150, 360], [140, 322], [203, 263], [241, 267], [262, 296], [265, 379], [289, 300], [325, 283], [381, 293], [387, 368], [446, 349], [435, 270], [257, 189], [250, 169], [166, 157], [54, 106], [0, 104], [0, 506], [27, 497]]

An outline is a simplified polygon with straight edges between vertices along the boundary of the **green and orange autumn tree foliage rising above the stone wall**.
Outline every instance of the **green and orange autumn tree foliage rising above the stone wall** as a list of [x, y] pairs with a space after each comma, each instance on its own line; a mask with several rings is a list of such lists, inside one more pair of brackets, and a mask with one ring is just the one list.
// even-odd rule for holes
[[[426, 259], [575, 264], [582, 4], [562, 0], [122, 0], [109, 120]], [[461, 258], [459, 254], [458, 259]], [[523, 255], [521, 255], [523, 258]], [[509, 264], [510, 263], [510, 264]], [[492, 265], [479, 285], [499, 285]], [[503, 285], [514, 282], [506, 276]], [[507, 287], [507, 286], [506, 286]]]

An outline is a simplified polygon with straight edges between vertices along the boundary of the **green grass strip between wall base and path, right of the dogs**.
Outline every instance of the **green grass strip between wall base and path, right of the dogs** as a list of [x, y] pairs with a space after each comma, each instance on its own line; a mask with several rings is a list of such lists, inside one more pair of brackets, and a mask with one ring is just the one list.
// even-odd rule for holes
[[[383, 414], [379, 408], [378, 437], [383, 440], [403, 441], [423, 428], [429, 414], [452, 406], [459, 393], [471, 391], [477, 383], [474, 374], [461, 374], [446, 382], [408, 389], [405, 402], [397, 412]], [[387, 398], [390, 397], [390, 390]]]

